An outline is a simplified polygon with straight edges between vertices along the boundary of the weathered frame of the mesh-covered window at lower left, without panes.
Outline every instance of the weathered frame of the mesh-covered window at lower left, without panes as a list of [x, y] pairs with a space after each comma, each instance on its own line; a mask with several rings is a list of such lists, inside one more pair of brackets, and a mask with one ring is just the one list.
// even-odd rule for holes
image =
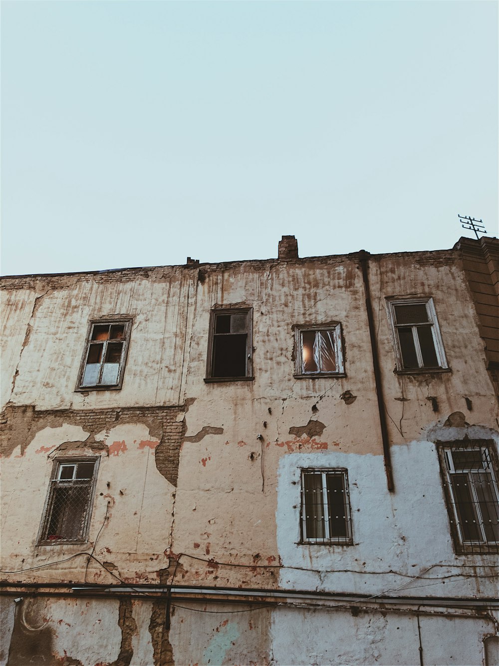
[[[82, 479], [82, 480], [77, 480], [75, 478], [77, 472], [77, 465], [81, 463], [94, 464], [92, 478]], [[86, 543], [86, 541], [88, 541], [88, 529], [90, 528], [90, 519], [92, 517], [92, 508], [94, 504], [99, 463], [100, 463], [99, 456], [91, 456], [91, 457], [89, 456], [86, 458], [58, 458], [57, 460], [54, 461], [51, 480], [49, 482], [49, 490], [47, 492], [47, 498], [45, 500], [45, 505], [43, 507], [43, 517], [41, 520], [39, 534], [37, 537], [37, 545], [63, 545], [65, 543]], [[64, 468], [71, 466], [74, 466], [72, 478], [61, 479]], [[76, 537], [74, 539], [51, 539], [49, 538], [48, 531], [52, 519], [55, 493], [57, 491], [57, 488], [61, 488], [63, 486], [74, 486], [75, 484], [79, 484], [81, 486], [88, 486], [90, 488], [88, 492], [86, 508], [84, 509], [84, 518], [81, 523], [80, 535], [79, 537]]]

